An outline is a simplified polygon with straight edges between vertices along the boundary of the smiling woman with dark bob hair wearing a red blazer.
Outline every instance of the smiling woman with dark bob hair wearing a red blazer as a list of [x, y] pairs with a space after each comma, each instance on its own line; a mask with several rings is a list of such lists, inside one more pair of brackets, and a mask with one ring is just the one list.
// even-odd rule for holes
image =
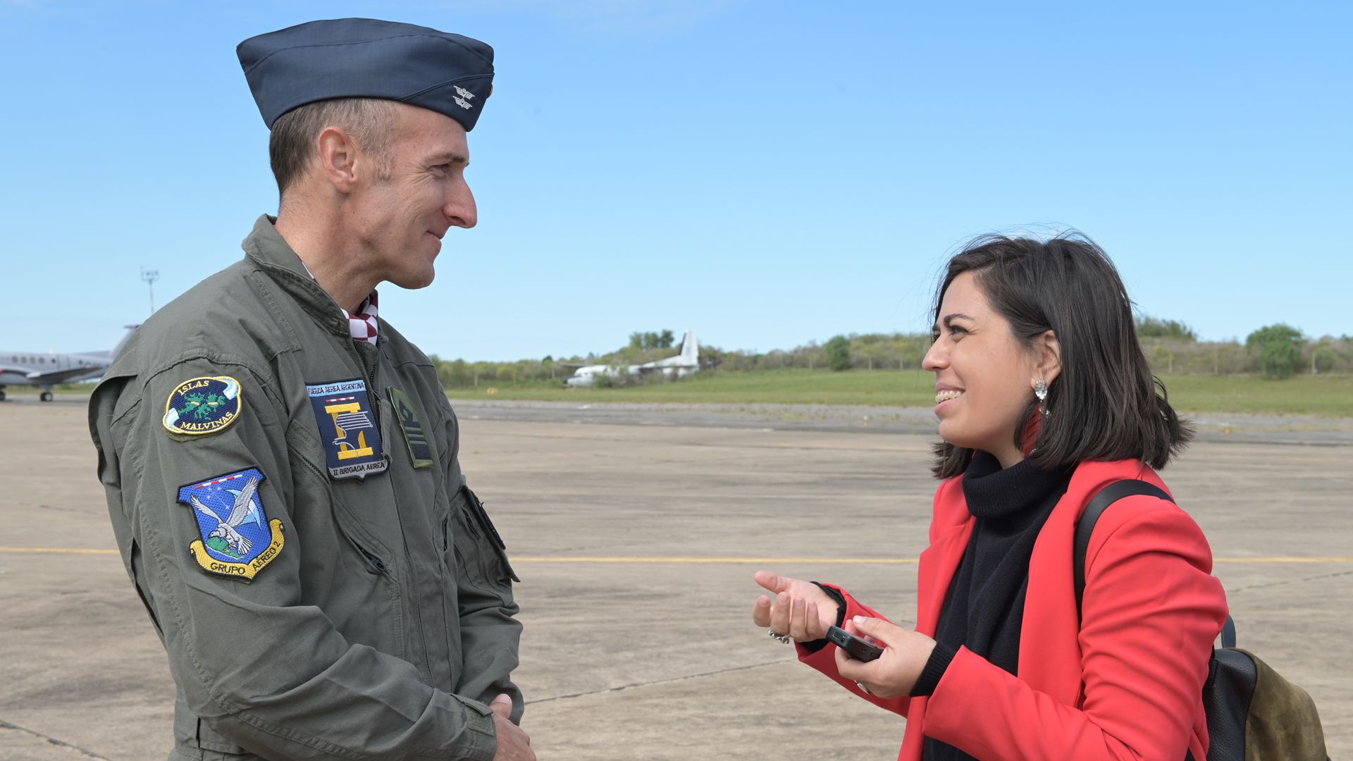
[[[948, 263], [932, 330], [942, 482], [916, 630], [770, 571], [756, 582], [775, 599], [756, 600], [752, 620], [907, 716], [900, 761], [1203, 761], [1226, 594], [1193, 519], [1138, 485], [1158, 496], [1101, 513], [1077, 601], [1086, 504], [1118, 481], [1164, 490], [1155, 471], [1192, 436], [1142, 355], [1114, 263], [1078, 234], [977, 238]], [[824, 639], [832, 624], [884, 654], [848, 658]]]

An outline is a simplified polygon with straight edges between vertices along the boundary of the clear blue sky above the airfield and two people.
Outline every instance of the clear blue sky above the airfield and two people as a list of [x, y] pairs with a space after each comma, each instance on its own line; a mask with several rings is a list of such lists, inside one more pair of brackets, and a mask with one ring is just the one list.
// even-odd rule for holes
[[[1112, 5], [1112, 7], [1111, 7]], [[375, 16], [497, 50], [479, 226], [382, 288], [429, 353], [921, 330], [990, 230], [1077, 227], [1142, 311], [1353, 333], [1346, 3], [0, 0], [3, 343], [111, 345], [276, 210], [244, 38]]]

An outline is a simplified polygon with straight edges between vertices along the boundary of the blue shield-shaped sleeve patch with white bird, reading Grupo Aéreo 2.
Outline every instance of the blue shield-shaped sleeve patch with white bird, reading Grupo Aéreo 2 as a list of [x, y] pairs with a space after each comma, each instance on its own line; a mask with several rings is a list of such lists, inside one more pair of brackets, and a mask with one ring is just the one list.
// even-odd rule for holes
[[192, 508], [199, 539], [188, 552], [202, 570], [252, 581], [281, 552], [280, 520], [268, 520], [257, 467], [216, 475], [179, 489], [179, 501]]

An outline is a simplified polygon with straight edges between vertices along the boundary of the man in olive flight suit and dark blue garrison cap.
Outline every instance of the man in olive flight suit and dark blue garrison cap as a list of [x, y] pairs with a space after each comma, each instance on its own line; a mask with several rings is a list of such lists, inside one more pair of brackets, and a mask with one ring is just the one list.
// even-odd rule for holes
[[[246, 39], [277, 217], [142, 325], [89, 408], [176, 761], [534, 760], [503, 546], [428, 357], [375, 286], [475, 226], [492, 49], [371, 19]], [[192, 251], [184, 251], [191, 256]]]

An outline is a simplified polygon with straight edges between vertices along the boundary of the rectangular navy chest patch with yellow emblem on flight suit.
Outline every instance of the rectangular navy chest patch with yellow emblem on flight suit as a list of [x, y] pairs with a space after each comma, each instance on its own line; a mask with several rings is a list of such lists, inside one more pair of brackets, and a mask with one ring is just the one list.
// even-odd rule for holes
[[380, 418], [367, 394], [365, 380], [307, 385], [306, 393], [319, 424], [330, 478], [364, 479], [390, 466], [380, 445]]

